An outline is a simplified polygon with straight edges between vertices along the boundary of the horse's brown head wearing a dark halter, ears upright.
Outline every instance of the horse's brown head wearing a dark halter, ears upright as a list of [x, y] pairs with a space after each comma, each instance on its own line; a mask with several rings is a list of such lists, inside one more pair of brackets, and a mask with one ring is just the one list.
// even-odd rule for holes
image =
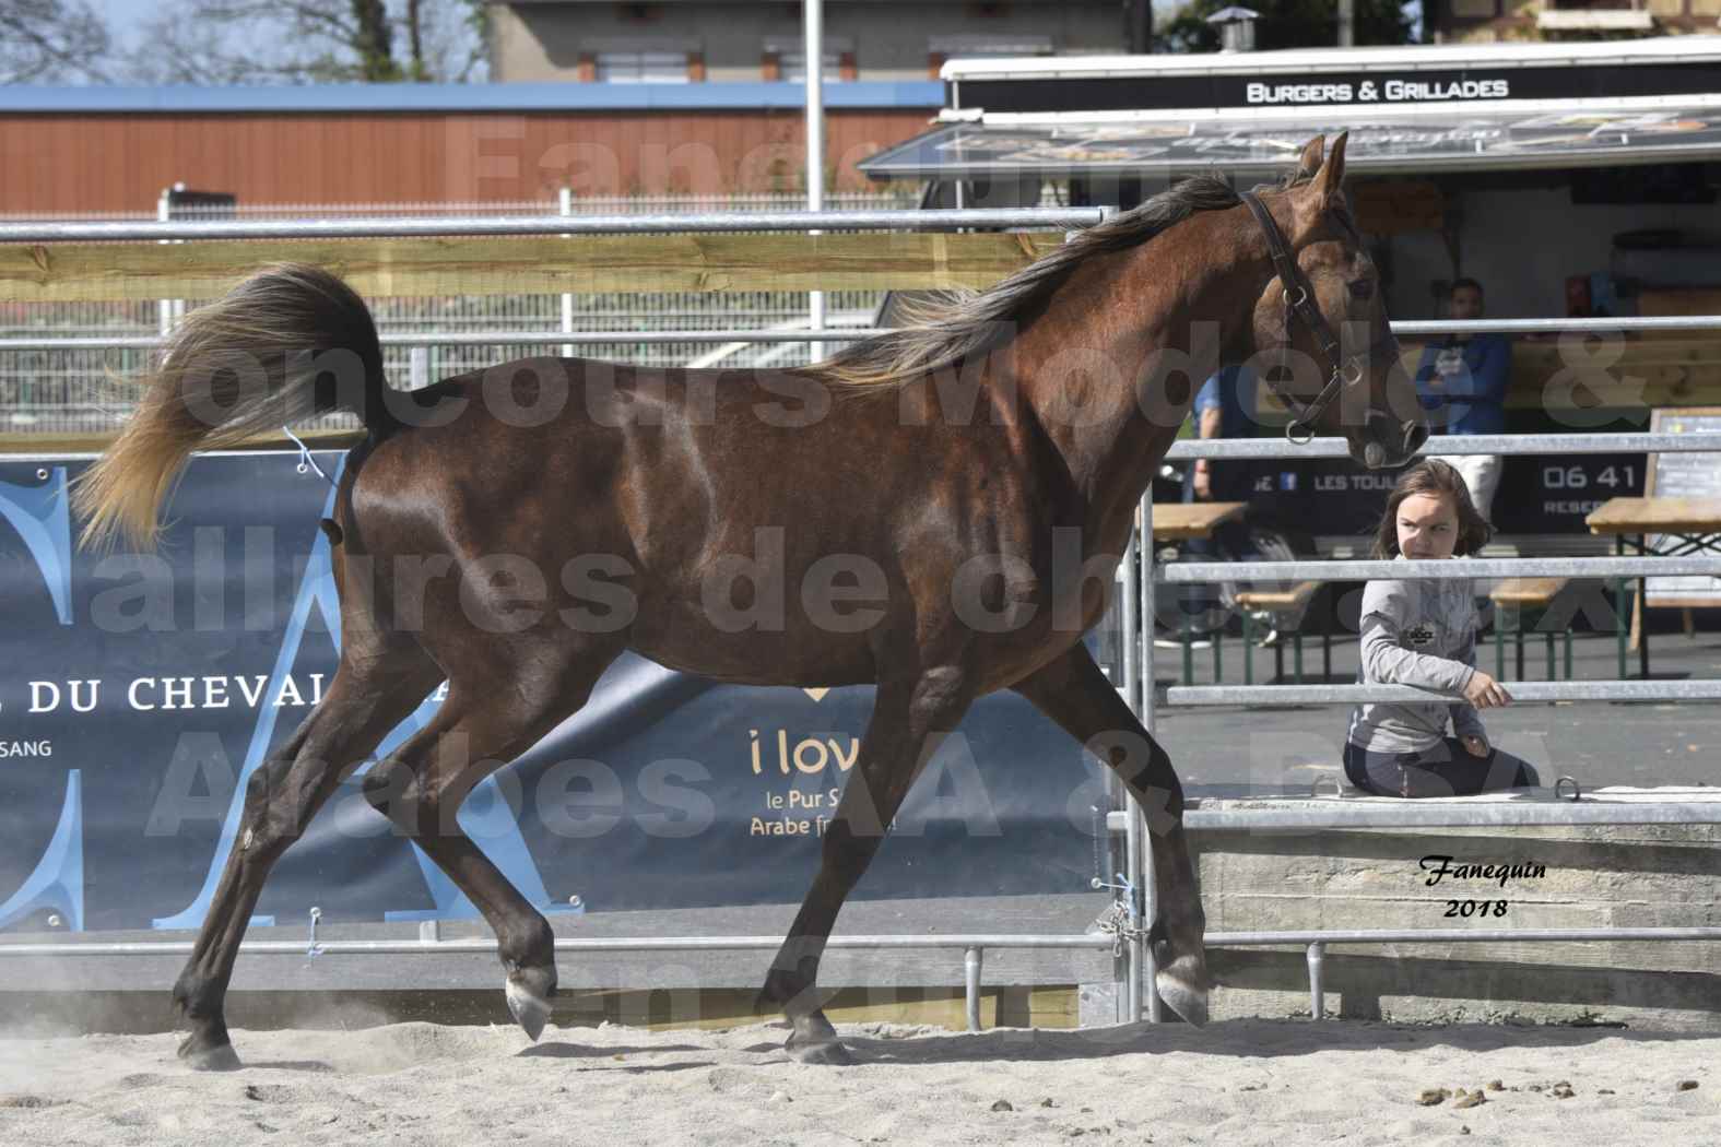
[[1323, 162], [1325, 138], [1317, 136], [1289, 187], [1244, 194], [1270, 256], [1255, 304], [1256, 361], [1291, 408], [1292, 440], [1342, 433], [1363, 466], [1401, 466], [1428, 425], [1344, 199], [1344, 141], [1341, 134]]

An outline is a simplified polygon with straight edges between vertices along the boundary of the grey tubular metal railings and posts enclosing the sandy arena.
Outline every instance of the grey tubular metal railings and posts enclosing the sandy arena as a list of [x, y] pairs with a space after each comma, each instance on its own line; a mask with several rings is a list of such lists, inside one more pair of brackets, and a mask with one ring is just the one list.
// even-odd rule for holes
[[[953, 212], [928, 212], [928, 210], [909, 210], [909, 212], [769, 212], [769, 213], [745, 213], [745, 212], [725, 212], [709, 215], [601, 215], [601, 217], [568, 217], [568, 215], [540, 215], [540, 217], [523, 217], [523, 218], [496, 218], [496, 217], [454, 217], [454, 218], [344, 218], [344, 220], [220, 220], [220, 222], [169, 222], [169, 224], [145, 224], [145, 222], [105, 222], [105, 224], [17, 224], [7, 225], [0, 224], [0, 242], [100, 242], [100, 241], [167, 241], [167, 239], [291, 239], [291, 237], [389, 237], [389, 236], [458, 236], [458, 234], [490, 234], [490, 236], [573, 236], [573, 234], [671, 234], [671, 232], [712, 232], [712, 230], [874, 230], [874, 229], [907, 229], [907, 230], [928, 230], [928, 229], [950, 229], [950, 227], [1088, 227], [1098, 224], [1105, 218], [1107, 212], [1103, 208], [1027, 208], [1027, 210], [953, 210]], [[1444, 334], [1444, 332], [1616, 332], [1616, 330], [1707, 330], [1721, 325], [1718, 316], [1675, 316], [1675, 318], [1609, 318], [1609, 320], [1477, 320], [1466, 323], [1453, 322], [1403, 322], [1394, 323], [1397, 334], [1416, 335], [1416, 334]], [[564, 323], [566, 327], [566, 323]], [[503, 339], [501, 334], [518, 335], [515, 339]], [[743, 339], [752, 339], [759, 342], [766, 340], [783, 340], [783, 342], [812, 342], [816, 339], [840, 339], [852, 340], [864, 334], [876, 334], [869, 328], [850, 328], [842, 332], [823, 332], [823, 335], [809, 335], [807, 332], [793, 332], [776, 335], [773, 332], [747, 332], [747, 330], [723, 330], [723, 332], [651, 332], [640, 337], [640, 332], [583, 332], [587, 335], [595, 335], [592, 339], [580, 337], [582, 332], [571, 330], [554, 330], [554, 332], [463, 332], [458, 339], [460, 342], [520, 342], [520, 344], [570, 344], [570, 342], [601, 342], [601, 344], [628, 344], [628, 342], [737, 342]], [[67, 346], [64, 342], [48, 344], [53, 349], [102, 349], [102, 347], [134, 347], [146, 349], [157, 346], [155, 339], [131, 339], [124, 337], [124, 344], [114, 339], [102, 340], [77, 340], [77, 347]], [[435, 342], [454, 342], [447, 335], [434, 334], [389, 334], [384, 339], [387, 344], [403, 346], [425, 346]], [[12, 342], [0, 342], [0, 349], [43, 349], [41, 340], [29, 342], [28, 339], [19, 339]], [[1718, 439], [1716, 444], [1697, 444], [1692, 435], [1537, 435], [1537, 437], [1496, 437], [1489, 440], [1471, 439], [1461, 442], [1456, 439], [1442, 440], [1442, 452], [1451, 454], [1509, 454], [1509, 452], [1530, 452], [1537, 449], [1554, 449], [1564, 452], [1580, 451], [1692, 451], [1692, 449], [1716, 449], [1721, 447], [1721, 435], [1712, 435]], [[1341, 440], [1317, 440], [1310, 445], [1291, 445], [1286, 442], [1184, 442], [1177, 444], [1170, 457], [1339, 457], [1348, 454], [1348, 447]], [[1141, 502], [1143, 526], [1141, 535], [1151, 538], [1151, 488]], [[1678, 564], [1683, 562], [1683, 564]], [[1151, 635], [1151, 617], [1153, 617], [1153, 592], [1157, 583], [1179, 583], [1179, 581], [1198, 581], [1212, 580], [1215, 576], [1224, 578], [1263, 578], [1263, 580], [1280, 580], [1280, 578], [1308, 578], [1308, 576], [1325, 576], [1325, 578], [1356, 578], [1370, 574], [1384, 574], [1387, 571], [1379, 569], [1385, 566], [1384, 562], [1253, 562], [1253, 564], [1189, 564], [1181, 567], [1177, 573], [1155, 573], [1151, 559], [1151, 545], [1143, 547], [1139, 540], [1132, 540], [1124, 559], [1122, 580], [1126, 586], [1132, 586], [1132, 592], [1126, 592], [1124, 614], [1127, 640], [1126, 648], [1126, 693], [1129, 703], [1143, 717], [1143, 724], [1151, 733], [1153, 731], [1153, 712], [1155, 712], [1155, 684], [1151, 672], [1151, 641], [1139, 641], [1136, 638], [1136, 628], [1143, 635]], [[1454, 569], [1449, 564], [1442, 566], [1439, 571], [1422, 571], [1413, 569], [1420, 566], [1432, 566], [1432, 562], [1392, 562], [1391, 576], [1454, 576], [1454, 578], [1473, 578], [1473, 576], [1518, 576], [1528, 573], [1564, 573], [1570, 576], [1625, 576], [1637, 573], [1640, 569], [1654, 567], [1654, 573], [1662, 574], [1680, 574], [1680, 573], [1700, 573], [1700, 574], [1721, 574], [1721, 559], [1561, 559], [1558, 571], [1554, 562], [1535, 561], [1535, 559], [1508, 559], [1508, 561], [1487, 561], [1487, 562], [1465, 562], [1463, 567]], [[1379, 573], [1377, 573], [1379, 571]], [[1597, 688], [1602, 686], [1623, 686], [1626, 683], [1595, 683]], [[1654, 690], [1654, 696], [1680, 696], [1676, 690], [1668, 686], [1676, 683], [1642, 683]], [[1678, 684], [1695, 684], [1695, 683], [1678, 683]], [[1272, 690], [1279, 695], [1280, 690]], [[1218, 703], [1194, 700], [1189, 702], [1186, 696], [1179, 695], [1175, 703]], [[1649, 808], [1649, 807], [1638, 807]], [[1361, 820], [1372, 824], [1384, 824], [1380, 820], [1385, 812], [1360, 808], [1356, 810]], [[1571, 815], [1570, 810], [1559, 808], [1561, 815]], [[1151, 853], [1144, 848], [1146, 843], [1146, 822], [1143, 812], [1134, 798], [1126, 798], [1126, 808], [1120, 815], [1122, 827], [1127, 834], [1127, 896], [1138, 911], [1139, 920], [1153, 920], [1153, 872], [1151, 872]], [[1110, 820], [1108, 820], [1110, 822]], [[1570, 820], [1561, 820], [1561, 824]], [[1231, 822], [1225, 822], [1231, 824]], [[1220, 824], [1206, 825], [1196, 812], [1189, 813], [1189, 827], [1222, 827]], [[1303, 825], [1308, 827], [1308, 825]], [[1382, 939], [1385, 937], [1385, 939]], [[1323, 944], [1330, 942], [1415, 942], [1425, 939], [1451, 939], [1463, 942], [1489, 942], [1494, 939], [1721, 939], [1721, 929], [1604, 929], [1604, 930], [1509, 930], [1509, 932], [1456, 932], [1456, 930], [1404, 930], [1404, 932], [1243, 932], [1243, 934], [1212, 934], [1206, 937], [1208, 944], [1227, 946], [1227, 944], [1306, 944], [1310, 951], [1310, 977], [1311, 977], [1311, 1003], [1313, 1015], [1318, 1018], [1322, 1015], [1320, 1006], [1320, 951]], [[558, 949], [570, 951], [675, 951], [675, 949], [723, 949], [723, 948], [778, 948], [781, 944], [780, 937], [657, 937], [657, 939], [638, 939], [638, 941], [558, 941]], [[831, 937], [830, 944], [833, 948], [962, 948], [965, 954], [965, 982], [967, 982], [967, 1004], [969, 1004], [969, 1023], [978, 1028], [978, 991], [979, 975], [983, 965], [984, 948], [1101, 948], [1110, 946], [1110, 937], [1095, 935], [950, 935], [950, 937], [891, 937], [891, 935], [864, 935], [864, 937]], [[64, 949], [77, 949], [84, 954], [95, 954], [96, 949], [103, 948], [100, 944], [91, 946], [34, 946], [36, 949], [52, 948], [59, 954], [76, 954]], [[181, 953], [189, 951], [189, 944], [176, 942], [150, 942], [150, 944], [119, 944], [108, 946], [110, 954], [124, 953]], [[275, 946], [270, 942], [258, 942], [244, 946], [241, 951], [299, 951], [299, 946], [284, 944]], [[423, 951], [494, 951], [494, 941], [418, 941], [418, 942], [392, 942], [392, 941], [330, 941], [322, 948], [329, 953], [423, 953]], [[33, 946], [10, 946], [0, 944], [0, 954], [29, 954]], [[1139, 1018], [1143, 1015], [1141, 991], [1143, 984], [1151, 984], [1153, 960], [1151, 953], [1144, 944], [1141, 930], [1134, 930], [1126, 942], [1127, 956], [1127, 984], [1126, 999], [1131, 1018]], [[1148, 991], [1148, 1016], [1150, 1020], [1160, 1018], [1160, 1001], [1157, 994]]]

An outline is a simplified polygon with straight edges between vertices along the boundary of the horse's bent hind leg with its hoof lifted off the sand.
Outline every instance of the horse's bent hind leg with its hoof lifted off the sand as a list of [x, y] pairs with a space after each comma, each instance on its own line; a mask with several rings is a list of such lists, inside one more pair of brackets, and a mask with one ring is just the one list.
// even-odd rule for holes
[[[461, 832], [456, 813], [478, 781], [585, 703], [613, 655], [589, 655], [556, 688], [521, 684], [518, 669], [503, 671], [501, 678], [484, 676], [472, 688], [456, 679], [435, 719], [365, 777], [365, 798], [484, 913], [508, 972], [508, 1008], [532, 1039], [544, 1030], [556, 994], [556, 935], [544, 915]], [[509, 676], [516, 679], [513, 691], [494, 688], [496, 679]]]

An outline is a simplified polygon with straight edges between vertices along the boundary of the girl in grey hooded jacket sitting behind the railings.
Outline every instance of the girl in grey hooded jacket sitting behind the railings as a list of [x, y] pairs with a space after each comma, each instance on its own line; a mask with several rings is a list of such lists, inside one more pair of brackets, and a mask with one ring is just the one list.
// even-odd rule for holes
[[[1463, 478], [1427, 459], [1392, 488], [1373, 555], [1439, 561], [1475, 554], [1487, 540], [1489, 524]], [[1528, 762], [1489, 743], [1477, 714], [1509, 705], [1511, 693], [1477, 669], [1477, 602], [1461, 573], [1437, 581], [1370, 581], [1363, 588], [1361, 662], [1363, 684], [1409, 684], [1463, 700], [1358, 705], [1344, 745], [1351, 784], [1377, 796], [1471, 796], [1540, 784]]]

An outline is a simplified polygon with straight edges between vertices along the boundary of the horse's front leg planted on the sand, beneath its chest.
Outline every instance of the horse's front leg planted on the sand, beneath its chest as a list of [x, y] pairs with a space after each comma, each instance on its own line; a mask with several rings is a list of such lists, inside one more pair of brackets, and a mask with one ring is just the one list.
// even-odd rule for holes
[[761, 999], [780, 1006], [793, 1025], [788, 1054], [802, 1063], [852, 1063], [819, 1008], [819, 956], [836, 913], [878, 853], [909, 786], [938, 751], [943, 734], [962, 721], [971, 700], [969, 674], [957, 667], [929, 669], [878, 686], [855, 767], [824, 831], [819, 874], [761, 992]]

